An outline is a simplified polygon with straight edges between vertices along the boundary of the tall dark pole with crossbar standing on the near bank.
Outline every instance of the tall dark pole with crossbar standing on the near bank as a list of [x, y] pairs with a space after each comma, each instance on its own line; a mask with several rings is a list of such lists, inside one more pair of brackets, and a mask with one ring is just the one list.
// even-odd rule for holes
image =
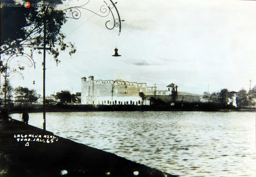
[[44, 50], [44, 61], [43, 61], [43, 129], [46, 130], [46, 120], [45, 120], [45, 52], [46, 49], [49, 50], [51, 48], [46, 48], [46, 14], [48, 11], [48, 7], [46, 8], [45, 14], [44, 14], [44, 47], [38, 47], [37, 49], [43, 49]]

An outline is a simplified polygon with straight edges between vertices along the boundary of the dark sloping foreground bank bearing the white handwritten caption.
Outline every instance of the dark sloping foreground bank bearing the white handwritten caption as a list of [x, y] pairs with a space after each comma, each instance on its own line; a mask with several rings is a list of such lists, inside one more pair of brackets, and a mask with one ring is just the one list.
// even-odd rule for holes
[[0, 176], [170, 177], [17, 120], [0, 120]]

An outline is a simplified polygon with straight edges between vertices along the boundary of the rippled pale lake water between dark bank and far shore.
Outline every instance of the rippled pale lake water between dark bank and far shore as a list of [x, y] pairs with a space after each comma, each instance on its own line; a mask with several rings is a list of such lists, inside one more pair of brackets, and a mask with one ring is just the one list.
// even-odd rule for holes
[[171, 174], [256, 176], [255, 112], [46, 113], [46, 129]]

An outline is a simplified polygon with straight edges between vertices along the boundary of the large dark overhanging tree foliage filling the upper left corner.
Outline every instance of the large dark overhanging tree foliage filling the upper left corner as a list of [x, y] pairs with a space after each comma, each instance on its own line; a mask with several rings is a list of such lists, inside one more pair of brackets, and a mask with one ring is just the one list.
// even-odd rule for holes
[[[10, 3], [10, 1], [6, 2]], [[29, 8], [10, 8], [5, 5], [1, 7], [0, 54], [12, 55], [29, 48], [32, 56], [37, 47], [43, 47], [45, 22], [46, 44], [50, 47], [47, 51], [53, 55], [56, 63], [59, 63], [60, 60], [57, 59], [59, 51], [70, 48], [69, 55], [76, 52], [71, 42], [64, 42], [66, 36], [60, 30], [67, 21], [65, 11], [57, 10], [62, 1], [34, 0], [33, 3], [44, 5], [30, 6]], [[38, 53], [41, 52], [38, 51]]]

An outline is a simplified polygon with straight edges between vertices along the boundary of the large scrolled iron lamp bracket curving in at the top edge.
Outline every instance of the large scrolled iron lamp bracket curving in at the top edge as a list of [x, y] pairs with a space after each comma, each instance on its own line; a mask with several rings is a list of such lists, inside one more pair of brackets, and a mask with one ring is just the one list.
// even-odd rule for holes
[[[110, 30], [114, 29], [114, 27], [119, 27], [119, 34], [120, 34], [121, 33], [121, 27], [122, 27], [121, 26], [121, 22], [124, 21], [124, 20], [120, 19], [119, 12], [118, 12], [118, 10], [116, 8], [116, 5], [115, 5], [117, 2], [113, 3], [112, 0], [109, 0], [109, 1], [111, 2], [110, 4], [106, 3], [106, 1], [103, 1], [105, 4], [100, 6], [100, 10], [99, 10], [101, 12], [101, 14], [99, 14], [98, 12], [91, 11], [90, 9], [84, 8], [85, 5], [87, 5], [90, 2], [90, 0], [88, 0], [83, 5], [69, 7], [69, 8], [67, 8], [67, 9], [65, 9], [63, 11], [68, 11], [69, 10], [71, 15], [72, 15], [72, 17], [67, 17], [67, 18], [73, 18], [73, 19], [79, 19], [81, 17], [81, 11], [80, 11], [81, 9], [84, 9], [84, 10], [87, 10], [87, 11], [91, 11], [92, 13], [94, 13], [94, 14], [100, 16], [100, 17], [107, 17], [109, 14], [111, 14], [112, 17], [113, 17], [113, 24], [114, 25], [109, 27], [108, 26], [108, 22], [110, 22], [110, 20], [108, 20], [105, 23], [105, 26], [106, 26], [106, 28], [108, 28]], [[113, 9], [116, 10], [117, 18], [115, 17], [115, 15], [113, 13], [113, 11], [114, 11]]]

